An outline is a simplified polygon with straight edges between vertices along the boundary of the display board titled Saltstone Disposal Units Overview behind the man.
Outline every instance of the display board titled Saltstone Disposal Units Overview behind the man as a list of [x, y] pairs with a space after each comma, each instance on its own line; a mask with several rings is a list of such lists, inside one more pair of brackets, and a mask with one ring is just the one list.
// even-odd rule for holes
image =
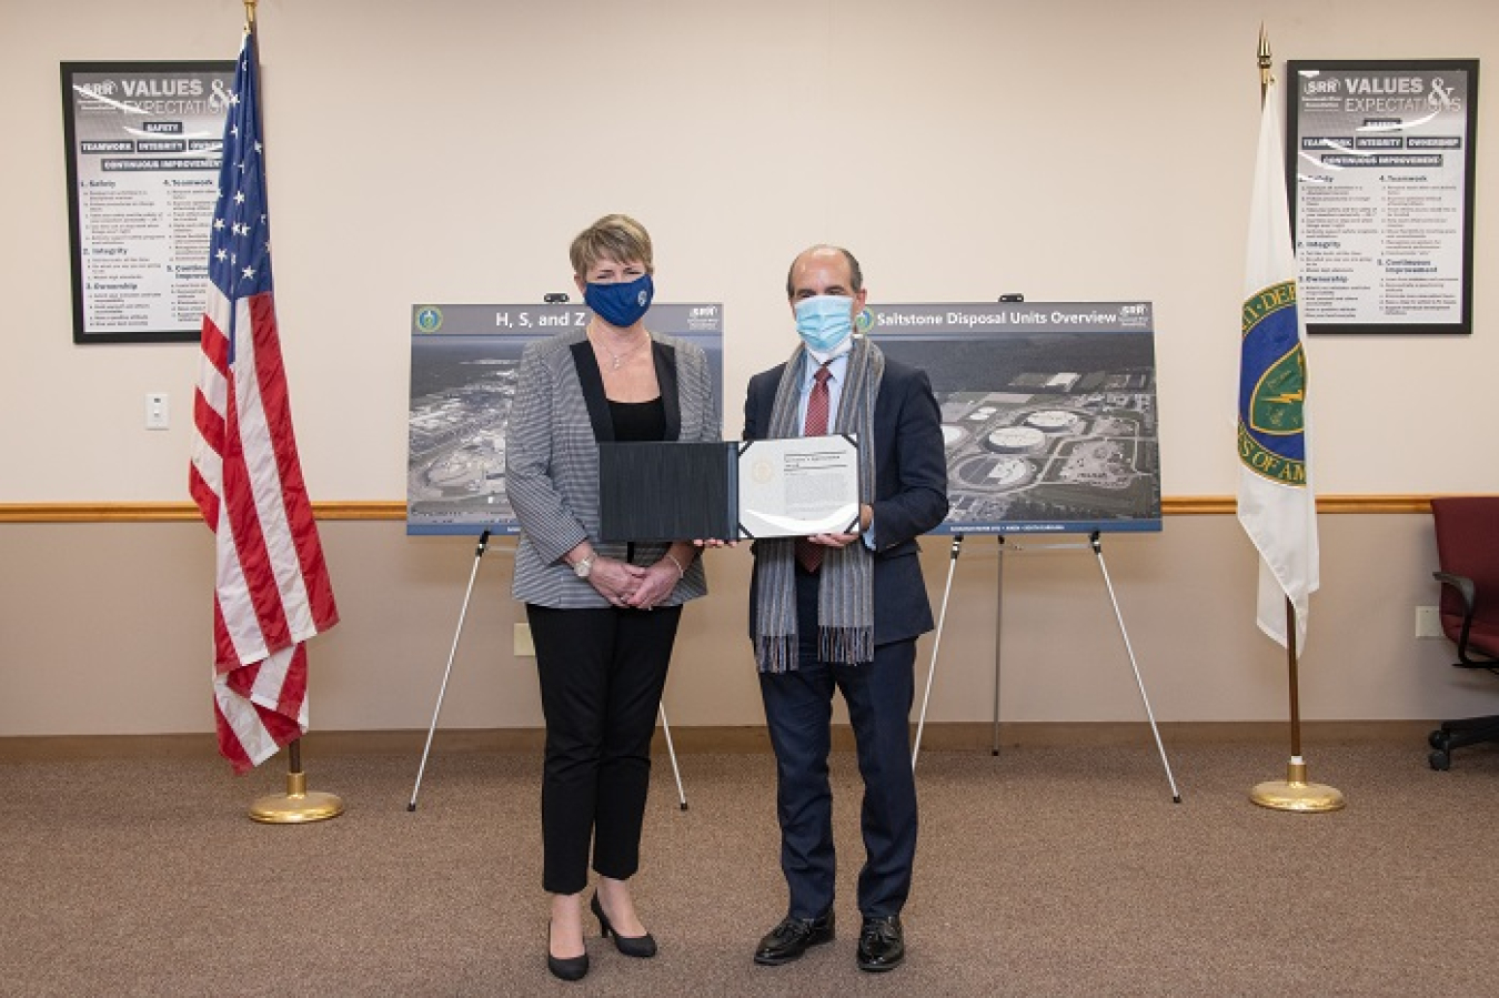
[[1160, 529], [1151, 303], [880, 304], [859, 325], [941, 405], [934, 533]]

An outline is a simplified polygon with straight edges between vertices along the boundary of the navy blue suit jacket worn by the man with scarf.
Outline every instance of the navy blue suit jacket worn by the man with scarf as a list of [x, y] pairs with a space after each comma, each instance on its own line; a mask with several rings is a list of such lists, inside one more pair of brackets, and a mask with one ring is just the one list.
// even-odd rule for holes
[[[750, 379], [744, 439], [764, 439], [769, 433], [784, 373], [781, 364]], [[926, 372], [884, 360], [874, 405], [874, 643], [887, 644], [934, 626], [916, 538], [947, 515], [947, 454], [941, 409]], [[751, 628], [758, 581], [757, 562], [750, 580]]]

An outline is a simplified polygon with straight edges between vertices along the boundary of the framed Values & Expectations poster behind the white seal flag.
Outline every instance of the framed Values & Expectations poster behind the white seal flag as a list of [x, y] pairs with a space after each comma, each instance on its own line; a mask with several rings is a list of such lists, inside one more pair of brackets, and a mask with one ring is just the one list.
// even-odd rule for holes
[[1478, 60], [1292, 60], [1286, 75], [1307, 333], [1472, 333]]

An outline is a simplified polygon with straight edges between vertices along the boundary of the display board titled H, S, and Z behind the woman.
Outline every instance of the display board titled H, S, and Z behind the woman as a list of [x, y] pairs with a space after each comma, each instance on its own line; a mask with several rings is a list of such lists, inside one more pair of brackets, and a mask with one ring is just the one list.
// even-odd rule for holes
[[[532, 340], [588, 325], [571, 304], [418, 304], [411, 309], [406, 533], [519, 533], [505, 495], [505, 430]], [[708, 354], [723, 420], [724, 309], [654, 304], [652, 333]]]

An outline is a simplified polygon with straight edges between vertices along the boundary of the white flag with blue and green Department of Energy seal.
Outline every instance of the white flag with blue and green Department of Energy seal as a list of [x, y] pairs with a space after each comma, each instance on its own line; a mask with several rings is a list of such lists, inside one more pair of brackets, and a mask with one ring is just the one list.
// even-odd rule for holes
[[1306, 411], [1307, 367], [1297, 309], [1280, 106], [1274, 84], [1259, 120], [1238, 375], [1238, 520], [1259, 548], [1259, 629], [1286, 644], [1285, 601], [1306, 646], [1318, 587], [1316, 496]]

